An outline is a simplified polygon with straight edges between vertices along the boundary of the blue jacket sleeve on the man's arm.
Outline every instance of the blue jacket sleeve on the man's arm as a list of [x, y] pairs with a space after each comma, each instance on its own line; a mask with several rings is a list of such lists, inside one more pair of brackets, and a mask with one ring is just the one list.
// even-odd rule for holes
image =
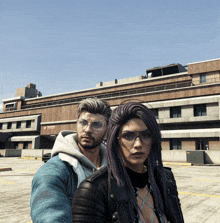
[[74, 184], [76, 175], [67, 165], [55, 157], [35, 174], [30, 200], [33, 223], [72, 223], [71, 206], [77, 183]]

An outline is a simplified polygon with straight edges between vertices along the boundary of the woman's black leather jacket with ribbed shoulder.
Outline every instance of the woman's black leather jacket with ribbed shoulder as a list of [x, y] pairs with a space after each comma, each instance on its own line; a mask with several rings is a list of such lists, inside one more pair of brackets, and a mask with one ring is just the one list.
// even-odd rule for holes
[[[168, 207], [165, 215], [170, 223], [183, 223], [176, 182], [170, 169], [165, 168]], [[84, 180], [77, 189], [72, 203], [73, 222], [134, 223], [136, 212], [123, 187], [110, 177], [107, 167]]]

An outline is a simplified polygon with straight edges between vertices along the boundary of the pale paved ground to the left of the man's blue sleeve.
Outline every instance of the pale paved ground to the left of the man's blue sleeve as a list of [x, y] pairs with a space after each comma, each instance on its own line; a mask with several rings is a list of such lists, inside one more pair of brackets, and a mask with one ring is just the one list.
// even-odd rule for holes
[[0, 222], [27, 223], [30, 217], [31, 181], [44, 163], [41, 160], [0, 158], [0, 168], [12, 171], [0, 172]]

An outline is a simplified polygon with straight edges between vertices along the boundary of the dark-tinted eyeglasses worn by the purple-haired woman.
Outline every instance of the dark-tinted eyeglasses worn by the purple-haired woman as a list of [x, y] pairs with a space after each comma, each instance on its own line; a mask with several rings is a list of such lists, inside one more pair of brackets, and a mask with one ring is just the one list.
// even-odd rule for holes
[[124, 132], [122, 133], [119, 137], [118, 140], [119, 142], [125, 146], [129, 147], [132, 146], [137, 139], [137, 137], [140, 138], [140, 140], [145, 144], [145, 145], [150, 145], [150, 139], [151, 139], [151, 134], [149, 130], [145, 131], [134, 131], [134, 132]]

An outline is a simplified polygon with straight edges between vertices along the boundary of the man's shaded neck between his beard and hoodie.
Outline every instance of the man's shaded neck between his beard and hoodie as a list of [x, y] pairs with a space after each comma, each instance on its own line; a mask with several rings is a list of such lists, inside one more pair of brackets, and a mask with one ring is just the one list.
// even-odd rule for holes
[[82, 147], [80, 147], [80, 150], [82, 152], [82, 154], [87, 157], [95, 166], [96, 168], [99, 168], [101, 166], [101, 157], [100, 157], [100, 148], [96, 147], [94, 149], [84, 149]]

